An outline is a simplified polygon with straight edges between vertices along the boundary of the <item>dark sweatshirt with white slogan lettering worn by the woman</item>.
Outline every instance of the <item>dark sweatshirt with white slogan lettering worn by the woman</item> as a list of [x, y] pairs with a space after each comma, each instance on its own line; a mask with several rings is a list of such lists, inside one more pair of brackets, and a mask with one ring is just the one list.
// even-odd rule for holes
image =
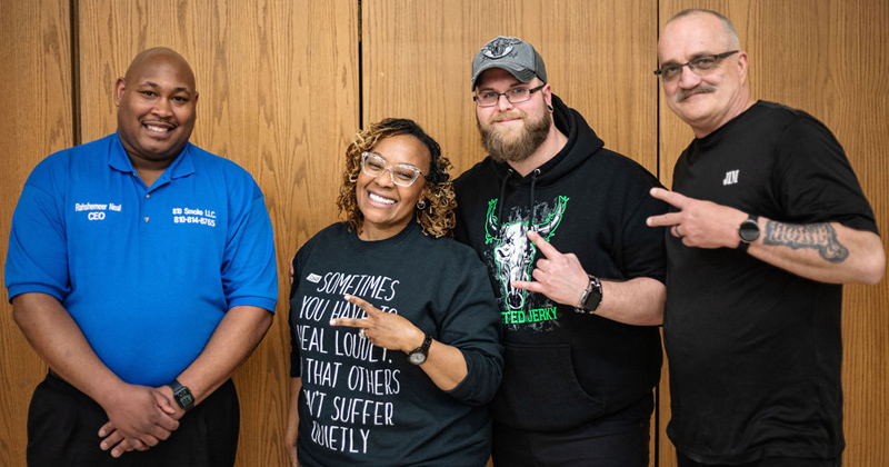
[[[302, 378], [298, 455], [316, 466], [483, 466], [488, 403], [502, 374], [499, 312], [468, 247], [416, 222], [380, 241], [334, 223], [300, 248], [290, 299], [291, 377]], [[444, 393], [402, 351], [336, 317], [363, 318], [350, 294], [457, 347], [469, 374]]]

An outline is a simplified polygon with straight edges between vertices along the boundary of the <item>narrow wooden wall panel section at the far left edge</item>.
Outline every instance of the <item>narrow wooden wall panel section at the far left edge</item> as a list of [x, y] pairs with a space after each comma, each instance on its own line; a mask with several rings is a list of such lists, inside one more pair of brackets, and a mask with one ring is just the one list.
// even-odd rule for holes
[[[31, 169], [71, 146], [71, 29], [68, 2], [0, 2], [0, 258], [12, 211]], [[2, 275], [2, 272], [0, 272]], [[23, 466], [24, 424], [47, 367], [0, 300], [0, 466]]]

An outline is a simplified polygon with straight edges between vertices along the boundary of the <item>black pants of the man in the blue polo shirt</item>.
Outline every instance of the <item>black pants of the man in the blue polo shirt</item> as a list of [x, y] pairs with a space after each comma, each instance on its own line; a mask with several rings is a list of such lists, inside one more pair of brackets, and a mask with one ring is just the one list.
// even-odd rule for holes
[[240, 409], [229, 379], [179, 420], [169, 438], [146, 451], [111, 457], [99, 448], [108, 423], [101, 406], [48, 375], [28, 410], [29, 467], [231, 467], [238, 449]]

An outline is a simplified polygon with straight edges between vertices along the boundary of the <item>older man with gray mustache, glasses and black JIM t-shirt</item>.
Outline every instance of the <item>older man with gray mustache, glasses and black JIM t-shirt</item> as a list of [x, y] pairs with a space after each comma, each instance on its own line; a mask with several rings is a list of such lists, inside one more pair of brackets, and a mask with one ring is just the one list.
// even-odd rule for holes
[[842, 284], [875, 284], [873, 211], [818, 120], [755, 101], [731, 22], [677, 13], [658, 43], [695, 140], [672, 191], [663, 336], [680, 467], [842, 464]]

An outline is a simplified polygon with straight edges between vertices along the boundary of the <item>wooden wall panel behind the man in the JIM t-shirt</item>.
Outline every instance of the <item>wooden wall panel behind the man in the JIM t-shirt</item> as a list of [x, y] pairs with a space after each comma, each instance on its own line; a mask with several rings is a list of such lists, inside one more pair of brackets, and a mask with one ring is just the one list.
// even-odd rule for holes
[[[712, 9], [735, 23], [741, 48], [750, 57], [755, 98], [806, 110], [833, 131], [873, 206], [887, 246], [889, 4], [883, 0], [660, 0], [659, 27], [686, 8]], [[662, 91], [659, 115], [660, 175], [669, 186], [676, 159], [693, 136], [667, 107]], [[885, 309], [889, 280], [847, 286], [845, 291], [845, 465], [889, 465], [889, 317]], [[662, 394], [666, 423], [666, 386]], [[676, 465], [666, 437], [661, 453], [662, 467]]]

